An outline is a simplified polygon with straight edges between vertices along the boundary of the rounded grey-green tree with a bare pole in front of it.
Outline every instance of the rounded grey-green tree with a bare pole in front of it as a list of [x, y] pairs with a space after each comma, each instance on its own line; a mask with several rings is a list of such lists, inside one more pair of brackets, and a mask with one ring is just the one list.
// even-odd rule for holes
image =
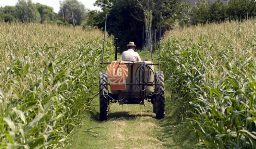
[[73, 23], [72, 13], [75, 25], [80, 25], [85, 19], [85, 7], [81, 2], [77, 0], [64, 0], [60, 2], [60, 5], [59, 17], [63, 17], [70, 24]]

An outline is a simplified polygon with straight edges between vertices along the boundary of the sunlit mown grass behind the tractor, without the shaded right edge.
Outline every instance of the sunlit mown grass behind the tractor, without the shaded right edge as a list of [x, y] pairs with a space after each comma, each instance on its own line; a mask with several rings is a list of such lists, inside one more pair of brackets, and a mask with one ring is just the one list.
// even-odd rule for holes
[[[98, 100], [95, 99], [95, 105]], [[98, 106], [92, 116], [83, 120], [83, 126], [75, 130], [71, 148], [162, 148], [157, 139], [155, 114], [143, 105], [110, 104], [110, 116], [107, 121], [99, 120]], [[97, 128], [93, 128], [97, 127]], [[94, 132], [86, 131], [92, 128]], [[94, 135], [94, 137], [92, 136]], [[86, 140], [86, 141], [85, 141]]]

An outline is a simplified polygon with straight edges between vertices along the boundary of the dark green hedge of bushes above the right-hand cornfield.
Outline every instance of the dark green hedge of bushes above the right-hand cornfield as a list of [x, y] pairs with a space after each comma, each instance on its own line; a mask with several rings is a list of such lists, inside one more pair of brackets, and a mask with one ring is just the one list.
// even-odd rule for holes
[[215, 3], [200, 3], [195, 6], [190, 16], [192, 24], [221, 22], [225, 19], [244, 20], [256, 16], [256, 1], [230, 0], [224, 5], [220, 0]]

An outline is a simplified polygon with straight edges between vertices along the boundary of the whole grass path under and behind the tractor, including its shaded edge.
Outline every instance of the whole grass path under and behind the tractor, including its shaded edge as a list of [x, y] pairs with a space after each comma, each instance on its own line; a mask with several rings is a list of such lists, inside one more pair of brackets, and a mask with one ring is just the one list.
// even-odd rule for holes
[[[195, 137], [187, 124], [180, 123], [178, 112], [173, 110], [170, 95], [166, 94], [166, 117], [155, 119], [152, 104], [110, 104], [107, 121], [99, 121], [98, 98], [94, 101], [91, 117], [73, 134], [72, 149], [184, 149], [195, 148]], [[91, 129], [90, 129], [91, 128]]]

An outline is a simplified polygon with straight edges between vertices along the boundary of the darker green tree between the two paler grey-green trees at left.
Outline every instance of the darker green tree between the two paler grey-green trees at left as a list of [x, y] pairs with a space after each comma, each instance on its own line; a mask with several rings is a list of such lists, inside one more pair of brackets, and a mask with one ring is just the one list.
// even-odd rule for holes
[[55, 19], [53, 7], [42, 5], [40, 3], [36, 3], [35, 5], [41, 17], [41, 23], [50, 22]]

